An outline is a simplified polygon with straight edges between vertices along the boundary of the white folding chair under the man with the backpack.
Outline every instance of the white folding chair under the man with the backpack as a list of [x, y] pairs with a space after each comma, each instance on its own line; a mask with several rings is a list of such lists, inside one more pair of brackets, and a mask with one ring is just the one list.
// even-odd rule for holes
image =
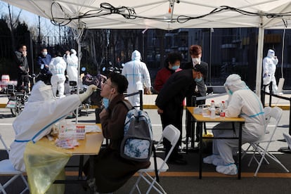
[[[174, 127], [172, 124], [169, 124], [162, 131], [162, 137], [160, 138], [160, 141], [157, 143], [155, 148], [158, 148], [160, 146], [160, 143], [162, 142], [163, 138], [167, 138], [167, 140], [171, 142], [172, 147], [169, 150], [167, 156], [164, 158], [164, 160], [162, 160], [162, 158], [160, 157], [157, 157], [157, 174], [160, 174], [160, 172], [167, 172], [167, 170], [169, 169], [169, 166], [167, 165], [167, 160], [169, 159], [169, 156], [174, 150], [174, 147], [178, 142], [179, 137], [180, 137], [179, 129]], [[138, 193], [141, 193], [141, 190], [138, 187], [138, 183], [141, 181], [141, 178], [143, 178], [145, 182], [148, 183], [148, 185], [150, 185], [146, 193], [149, 193], [152, 188], [154, 188], [157, 191], [157, 193], [166, 193], [166, 191], [164, 191], [160, 183], [157, 182], [157, 177], [150, 176], [150, 173], [155, 173], [155, 162], [153, 156], [150, 157], [150, 167], [148, 167], [147, 169], [138, 170], [138, 179], [136, 180], [136, 183], [134, 184], [134, 187], [131, 189], [130, 193], [133, 193], [135, 189], [138, 190]]]

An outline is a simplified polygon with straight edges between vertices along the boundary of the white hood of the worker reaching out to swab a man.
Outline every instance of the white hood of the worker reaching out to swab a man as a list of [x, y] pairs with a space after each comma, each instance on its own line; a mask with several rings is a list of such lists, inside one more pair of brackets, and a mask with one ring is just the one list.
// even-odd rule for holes
[[28, 98], [28, 103], [37, 101], [52, 101], [54, 100], [53, 90], [50, 85], [44, 84], [44, 82], [39, 81], [32, 87], [32, 92], [30, 98]]

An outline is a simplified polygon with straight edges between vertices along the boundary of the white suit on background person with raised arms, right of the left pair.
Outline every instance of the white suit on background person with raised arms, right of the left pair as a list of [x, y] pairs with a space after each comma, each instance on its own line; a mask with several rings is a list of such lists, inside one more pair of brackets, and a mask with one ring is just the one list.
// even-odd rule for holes
[[71, 49], [70, 54], [64, 55], [64, 60], [67, 62], [67, 76], [69, 77], [69, 82], [78, 80], [78, 57], [75, 49]]

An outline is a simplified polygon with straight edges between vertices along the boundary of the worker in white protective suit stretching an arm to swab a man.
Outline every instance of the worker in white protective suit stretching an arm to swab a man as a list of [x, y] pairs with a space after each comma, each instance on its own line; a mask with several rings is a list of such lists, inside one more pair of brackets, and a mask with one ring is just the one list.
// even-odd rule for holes
[[56, 100], [50, 85], [46, 85], [42, 81], [34, 84], [25, 108], [13, 122], [15, 140], [11, 144], [9, 153], [13, 167], [25, 172], [23, 154], [27, 142], [39, 141], [43, 136], [49, 134], [55, 122], [65, 119], [96, 89], [97, 86], [90, 85], [85, 93], [72, 94]]

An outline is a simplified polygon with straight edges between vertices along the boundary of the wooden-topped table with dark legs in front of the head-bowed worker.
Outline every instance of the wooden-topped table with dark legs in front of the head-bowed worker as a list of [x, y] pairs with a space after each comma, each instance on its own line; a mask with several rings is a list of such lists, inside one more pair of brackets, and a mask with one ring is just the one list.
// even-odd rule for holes
[[[190, 112], [192, 117], [196, 122], [239, 122], [240, 130], [238, 137], [203, 137], [202, 136], [202, 127], [200, 128], [200, 143], [199, 143], [199, 179], [202, 179], [202, 138], [211, 138], [211, 139], [238, 139], [238, 179], [240, 179], [241, 174], [241, 158], [242, 158], [242, 130], [245, 119], [243, 117], [229, 118], [225, 117], [224, 119], [220, 117], [215, 117], [211, 119], [210, 117], [203, 117], [201, 114], [194, 113], [195, 107], [187, 107], [187, 110]], [[234, 127], [234, 125], [233, 125]], [[233, 129], [234, 130], [234, 129]]]

